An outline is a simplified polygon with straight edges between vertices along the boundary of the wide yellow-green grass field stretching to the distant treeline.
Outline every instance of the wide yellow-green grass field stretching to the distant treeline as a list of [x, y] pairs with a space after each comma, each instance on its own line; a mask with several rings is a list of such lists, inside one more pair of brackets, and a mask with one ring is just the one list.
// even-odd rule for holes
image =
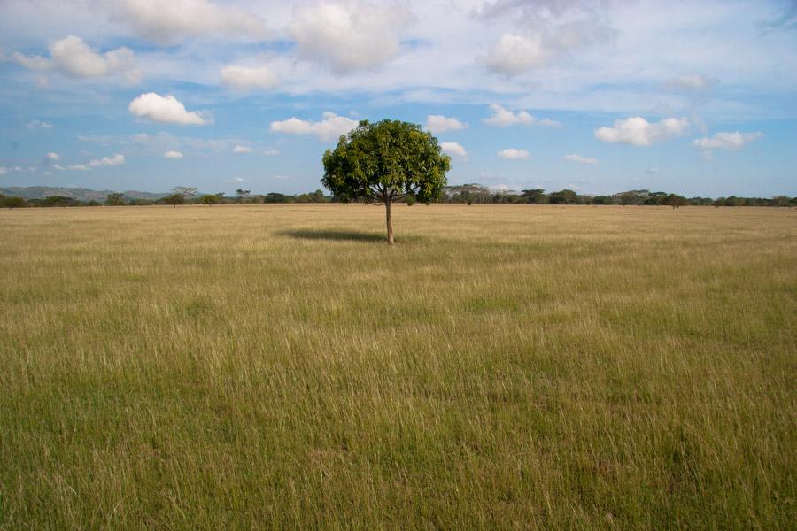
[[0, 212], [0, 527], [793, 528], [797, 211]]

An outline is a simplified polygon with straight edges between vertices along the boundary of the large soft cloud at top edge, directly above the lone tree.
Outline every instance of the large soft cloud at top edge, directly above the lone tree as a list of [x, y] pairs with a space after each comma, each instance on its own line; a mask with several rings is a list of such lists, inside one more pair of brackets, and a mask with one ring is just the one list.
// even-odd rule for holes
[[399, 32], [412, 19], [403, 4], [316, 4], [298, 8], [288, 31], [301, 57], [350, 73], [396, 57]]

